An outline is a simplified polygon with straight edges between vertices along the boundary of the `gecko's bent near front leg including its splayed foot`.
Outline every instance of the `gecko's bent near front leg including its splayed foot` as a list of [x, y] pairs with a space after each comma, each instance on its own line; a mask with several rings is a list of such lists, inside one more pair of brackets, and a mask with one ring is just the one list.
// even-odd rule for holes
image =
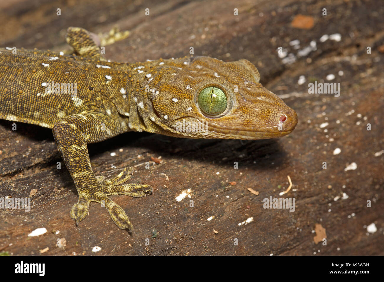
[[95, 201], [106, 207], [119, 228], [132, 231], [127, 214], [108, 195], [142, 197], [152, 193], [149, 185], [122, 184], [131, 178], [132, 168], [125, 168], [118, 176], [108, 180], [94, 175], [87, 143], [99, 142], [119, 133], [119, 122], [99, 112], [70, 115], [58, 120], [53, 127], [58, 150], [79, 194], [78, 203], [71, 209], [71, 218], [76, 224], [86, 218], [89, 203]]

